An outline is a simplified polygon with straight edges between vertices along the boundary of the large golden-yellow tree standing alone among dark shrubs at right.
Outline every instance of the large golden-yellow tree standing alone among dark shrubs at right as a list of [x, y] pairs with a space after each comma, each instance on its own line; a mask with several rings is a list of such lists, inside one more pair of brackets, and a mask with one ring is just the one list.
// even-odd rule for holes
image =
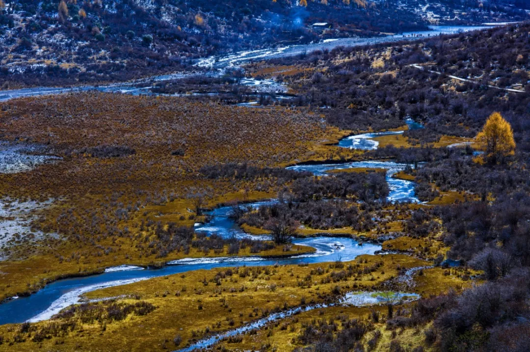
[[484, 149], [488, 161], [494, 164], [515, 153], [514, 131], [498, 112], [490, 115], [482, 131], [476, 135], [476, 142]]

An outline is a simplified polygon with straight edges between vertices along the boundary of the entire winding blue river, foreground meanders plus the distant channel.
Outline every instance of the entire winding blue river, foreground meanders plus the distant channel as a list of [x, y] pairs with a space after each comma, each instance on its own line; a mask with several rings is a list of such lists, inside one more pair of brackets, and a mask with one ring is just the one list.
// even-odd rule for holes
[[[426, 32], [425, 36], [429, 34], [437, 35], [444, 33], [455, 33], [458, 31], [476, 30], [482, 27], [438, 27], [437, 31]], [[412, 37], [407, 37], [412, 38]], [[381, 37], [372, 39], [338, 39], [334, 41], [327, 41], [316, 43], [313, 45], [287, 47], [280, 49], [273, 49], [267, 52], [245, 52], [238, 53], [232, 58], [219, 59], [212, 58], [210, 62], [214, 68], [222, 68], [233, 66], [236, 63], [242, 63], [255, 58], [271, 58], [279, 56], [288, 56], [300, 54], [302, 51], [317, 50], [317, 49], [331, 49], [338, 46], [355, 46], [366, 45], [374, 42], [390, 42], [402, 40], [403, 37]], [[417, 38], [415, 38], [417, 39]], [[223, 63], [224, 64], [219, 64]], [[206, 65], [206, 61], [199, 63]], [[224, 65], [224, 66], [223, 66]], [[206, 65], [207, 66], [207, 65]], [[204, 74], [204, 73], [202, 73]], [[173, 80], [179, 75], [165, 75], [152, 77], [152, 81]], [[248, 84], [258, 84], [259, 82], [248, 82]], [[34, 96], [45, 94], [59, 94], [73, 91], [88, 91], [97, 89], [99, 91], [121, 92], [128, 94], [143, 94], [146, 92], [144, 88], [135, 87], [134, 83], [113, 84], [108, 86], [87, 86], [70, 88], [36, 88], [24, 89], [17, 91], [2, 91], [0, 92], [0, 101], [18, 98], [21, 96]], [[417, 128], [409, 121], [409, 128]], [[347, 137], [339, 143], [339, 146], [359, 149], [375, 149], [377, 143], [370, 139], [383, 134], [398, 134], [401, 132], [386, 132], [386, 133], [372, 133], [357, 136]], [[39, 160], [40, 161], [40, 160]], [[390, 186], [391, 192], [388, 196], [390, 201], [412, 201], [417, 202], [418, 199], [414, 196], [413, 182], [399, 180], [392, 178], [392, 174], [401, 171], [405, 168], [404, 164], [398, 164], [390, 161], [366, 161], [366, 162], [349, 162], [349, 163], [330, 163], [330, 164], [314, 164], [314, 165], [295, 165], [290, 169], [300, 171], [311, 171], [316, 175], [327, 175], [331, 169], [347, 169], [347, 168], [384, 168], [387, 170], [387, 182]], [[263, 205], [263, 202], [253, 203], [253, 207]], [[245, 234], [237, 224], [228, 216], [231, 212], [231, 207], [219, 207], [208, 215], [212, 217], [212, 221], [208, 224], [198, 224], [196, 231], [206, 232], [208, 234], [217, 233], [222, 236], [237, 237], [249, 236]], [[264, 236], [267, 237], [267, 236]], [[255, 236], [254, 236], [255, 238]], [[65, 307], [80, 302], [80, 296], [86, 292], [94, 291], [104, 287], [125, 285], [134, 283], [139, 280], [145, 280], [152, 277], [165, 276], [176, 274], [180, 272], [199, 270], [199, 269], [213, 269], [217, 267], [235, 267], [235, 266], [265, 266], [279, 264], [297, 264], [297, 263], [318, 263], [330, 262], [337, 260], [340, 256], [342, 260], [349, 261], [355, 259], [361, 254], [373, 254], [381, 249], [380, 245], [372, 243], [364, 243], [360, 245], [356, 240], [348, 237], [339, 236], [316, 236], [305, 239], [295, 239], [295, 244], [308, 245], [316, 249], [315, 253], [303, 254], [289, 258], [267, 259], [261, 257], [223, 257], [223, 258], [199, 258], [199, 259], [181, 259], [174, 260], [161, 269], [140, 268], [136, 266], [121, 266], [108, 268], [102, 274], [92, 275], [80, 278], [69, 278], [57, 280], [54, 283], [46, 285], [37, 293], [28, 297], [14, 297], [12, 300], [0, 304], [0, 324], [6, 323], [20, 323], [24, 321], [40, 321], [49, 319], [52, 315], [58, 313]]]

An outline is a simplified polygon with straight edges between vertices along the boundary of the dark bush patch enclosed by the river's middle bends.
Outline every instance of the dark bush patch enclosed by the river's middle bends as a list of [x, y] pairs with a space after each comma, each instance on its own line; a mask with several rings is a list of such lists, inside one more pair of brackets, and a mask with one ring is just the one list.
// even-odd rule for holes
[[[296, 227], [289, 221], [322, 230], [351, 226], [368, 231], [375, 225], [370, 211], [381, 209], [388, 195], [385, 172], [338, 173], [323, 178], [293, 175], [293, 179], [290, 189], [279, 193], [279, 203], [263, 205], [255, 212], [236, 206], [233, 217], [240, 224], [268, 228], [273, 235], [279, 228]], [[349, 200], [363, 203], [358, 206]]]

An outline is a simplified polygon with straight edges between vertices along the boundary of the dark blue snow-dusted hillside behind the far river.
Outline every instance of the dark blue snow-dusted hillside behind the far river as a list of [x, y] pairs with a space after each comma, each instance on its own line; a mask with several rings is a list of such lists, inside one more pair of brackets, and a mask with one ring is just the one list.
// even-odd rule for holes
[[[433, 21], [519, 21], [528, 16], [515, 5], [471, 11], [474, 1], [423, 3], [2, 0], [0, 89], [50, 85], [51, 81], [54, 85], [123, 81], [177, 71], [212, 54], [425, 30]], [[438, 14], [453, 7], [458, 9], [454, 17]], [[434, 16], [431, 8], [438, 20], [430, 18]]]

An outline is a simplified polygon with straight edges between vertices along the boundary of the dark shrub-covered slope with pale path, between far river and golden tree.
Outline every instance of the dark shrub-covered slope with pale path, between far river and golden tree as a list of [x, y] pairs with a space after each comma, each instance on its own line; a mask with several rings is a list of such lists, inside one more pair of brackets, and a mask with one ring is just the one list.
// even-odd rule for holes
[[[313, 76], [301, 71], [283, 77], [300, 93], [298, 98], [282, 103], [333, 107], [323, 110], [333, 126], [378, 130], [403, 125], [403, 120], [411, 117], [426, 128], [408, 131], [405, 136], [413, 144], [428, 144], [444, 134], [473, 137], [485, 119], [499, 111], [513, 126], [518, 147], [530, 151], [530, 94], [487, 88], [488, 84], [508, 87], [518, 83], [526, 89], [529, 31], [530, 25], [523, 23], [414, 43], [317, 50], [272, 62], [317, 72]], [[382, 60], [382, 66], [373, 65], [377, 59]], [[335, 64], [337, 60], [341, 63]], [[428, 62], [435, 65], [426, 67], [440, 74], [409, 66]], [[455, 83], [448, 75], [477, 84]], [[506, 77], [507, 83], [500, 76]]]

